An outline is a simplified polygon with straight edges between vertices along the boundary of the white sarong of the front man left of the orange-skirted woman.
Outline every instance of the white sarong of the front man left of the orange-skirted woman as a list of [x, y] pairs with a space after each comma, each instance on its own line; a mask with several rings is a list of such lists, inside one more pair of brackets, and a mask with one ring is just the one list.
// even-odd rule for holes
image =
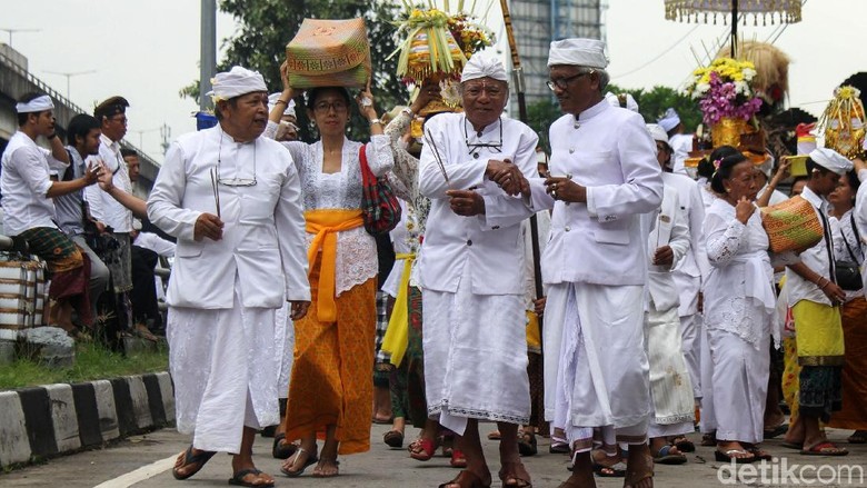
[[167, 338], [178, 431], [197, 449], [237, 454], [243, 427], [280, 420], [275, 309], [170, 307]]

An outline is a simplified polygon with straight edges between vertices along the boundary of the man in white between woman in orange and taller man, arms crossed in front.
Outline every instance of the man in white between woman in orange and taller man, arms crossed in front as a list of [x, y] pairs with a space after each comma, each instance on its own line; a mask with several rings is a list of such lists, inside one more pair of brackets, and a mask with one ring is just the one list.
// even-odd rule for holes
[[504, 486], [530, 486], [518, 455], [518, 426], [530, 417], [519, 243], [520, 222], [532, 215], [520, 193], [536, 173], [538, 136], [502, 117], [507, 79], [499, 60], [472, 56], [461, 74], [465, 112], [425, 123], [418, 179], [431, 200], [419, 262], [428, 414], [460, 436], [467, 458], [447, 488], [490, 486], [479, 420], [501, 432]]

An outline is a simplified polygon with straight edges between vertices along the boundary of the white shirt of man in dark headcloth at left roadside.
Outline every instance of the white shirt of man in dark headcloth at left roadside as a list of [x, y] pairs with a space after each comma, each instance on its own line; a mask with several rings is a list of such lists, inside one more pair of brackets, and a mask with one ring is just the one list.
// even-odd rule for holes
[[[132, 183], [129, 180], [127, 163], [120, 155], [120, 142], [112, 141], [106, 135], [100, 138], [99, 155], [87, 159], [90, 163], [94, 158], [101, 159], [106, 167], [113, 173], [111, 181], [116, 187], [132, 193]], [[129, 232], [132, 230], [132, 212], [114, 200], [110, 195], [91, 185], [84, 189], [84, 199], [90, 206], [90, 216], [100, 222], [110, 226], [114, 232]]]

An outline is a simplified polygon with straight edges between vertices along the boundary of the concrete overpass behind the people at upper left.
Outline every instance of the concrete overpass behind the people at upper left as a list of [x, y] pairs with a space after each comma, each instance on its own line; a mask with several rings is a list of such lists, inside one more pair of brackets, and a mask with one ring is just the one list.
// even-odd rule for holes
[[[21, 53], [11, 47], [0, 42], [0, 153], [9, 143], [9, 138], [18, 130], [16, 116], [16, 102], [22, 94], [39, 91], [48, 93], [54, 100], [54, 117], [57, 117], [58, 132], [66, 137], [66, 128], [72, 117], [78, 113], [93, 114], [93, 110], [84, 110], [72, 103], [44, 81], [28, 71], [28, 61]], [[137, 186], [141, 195], [147, 195], [153, 187], [159, 165], [139, 148], [129, 143], [126, 139], [121, 146], [134, 149], [141, 161], [141, 175]]]

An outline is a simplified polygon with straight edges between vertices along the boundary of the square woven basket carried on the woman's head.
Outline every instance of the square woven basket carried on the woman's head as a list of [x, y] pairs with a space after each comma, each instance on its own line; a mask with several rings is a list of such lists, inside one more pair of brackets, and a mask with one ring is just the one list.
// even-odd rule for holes
[[305, 19], [286, 61], [292, 88], [363, 88], [372, 71], [365, 20]]

